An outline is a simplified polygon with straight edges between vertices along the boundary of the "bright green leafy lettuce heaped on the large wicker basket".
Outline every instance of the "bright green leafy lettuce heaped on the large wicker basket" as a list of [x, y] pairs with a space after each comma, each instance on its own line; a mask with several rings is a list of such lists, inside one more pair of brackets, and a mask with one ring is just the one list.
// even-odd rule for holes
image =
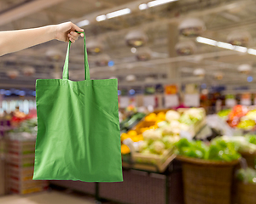
[[177, 155], [189, 156], [211, 161], [234, 161], [241, 156], [236, 145], [222, 138], [212, 139], [210, 144], [202, 141], [180, 139], [176, 144]]

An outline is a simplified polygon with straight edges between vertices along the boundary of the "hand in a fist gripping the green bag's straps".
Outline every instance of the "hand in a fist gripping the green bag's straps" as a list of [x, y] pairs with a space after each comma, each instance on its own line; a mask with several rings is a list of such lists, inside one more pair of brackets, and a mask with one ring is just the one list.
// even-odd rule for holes
[[77, 33], [75, 31], [84, 31], [79, 26], [74, 25], [72, 22], [61, 23], [55, 26], [55, 39], [64, 42], [75, 42], [79, 36], [84, 37], [84, 33]]

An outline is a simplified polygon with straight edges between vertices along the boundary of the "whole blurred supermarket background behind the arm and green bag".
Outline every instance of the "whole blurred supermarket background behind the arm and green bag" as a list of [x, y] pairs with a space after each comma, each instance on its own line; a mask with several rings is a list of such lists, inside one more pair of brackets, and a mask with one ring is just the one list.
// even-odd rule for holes
[[[91, 79], [117, 78], [123, 183], [32, 181], [36, 79], [66, 42], [0, 59], [0, 203], [256, 203], [256, 2], [1, 0], [0, 31], [72, 21]], [[25, 39], [27, 40], [27, 39]], [[84, 80], [82, 37], [70, 80]]]

